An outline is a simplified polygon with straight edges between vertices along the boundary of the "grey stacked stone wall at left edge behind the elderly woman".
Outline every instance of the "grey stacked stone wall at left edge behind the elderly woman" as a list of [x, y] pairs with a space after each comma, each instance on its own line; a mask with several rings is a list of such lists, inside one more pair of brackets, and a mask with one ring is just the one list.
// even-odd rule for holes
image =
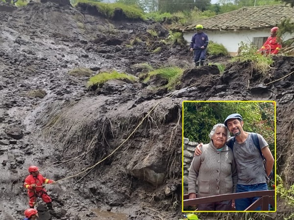
[[183, 165], [184, 165], [184, 194], [188, 193], [188, 174], [189, 174], [189, 168], [192, 163], [193, 157], [194, 157], [194, 151], [198, 143], [196, 142], [190, 142], [188, 138], [184, 137], [184, 159], [183, 159]]

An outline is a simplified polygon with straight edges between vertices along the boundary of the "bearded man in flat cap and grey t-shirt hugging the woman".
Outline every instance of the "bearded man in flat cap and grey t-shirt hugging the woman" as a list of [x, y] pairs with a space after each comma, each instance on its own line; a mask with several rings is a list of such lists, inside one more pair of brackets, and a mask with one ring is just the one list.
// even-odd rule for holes
[[[230, 141], [233, 142], [231, 147], [235, 157], [238, 174], [236, 193], [268, 190], [267, 183], [270, 180], [269, 176], [274, 163], [274, 158], [270, 152], [268, 143], [260, 134], [245, 132], [243, 130], [244, 121], [240, 114], [230, 114], [225, 119], [224, 124], [234, 135], [234, 137], [231, 137], [226, 144], [230, 145]], [[263, 164], [263, 158], [254, 144], [254, 135], [257, 135], [261, 152], [266, 159], [265, 166]], [[202, 143], [196, 147], [195, 155], [201, 154], [199, 149], [201, 145]], [[258, 198], [260, 197], [236, 199], [236, 210], [244, 211]], [[255, 211], [260, 210], [260, 206], [255, 209]]]

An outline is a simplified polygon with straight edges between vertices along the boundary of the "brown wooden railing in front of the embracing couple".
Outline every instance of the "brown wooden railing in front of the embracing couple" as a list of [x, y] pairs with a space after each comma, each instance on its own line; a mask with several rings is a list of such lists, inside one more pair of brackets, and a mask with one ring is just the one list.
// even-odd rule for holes
[[[197, 204], [209, 203], [209, 202], [217, 202], [224, 200], [232, 200], [238, 198], [251, 198], [251, 197], [260, 197], [254, 203], [252, 203], [249, 207], [247, 207], [244, 211], [254, 211], [258, 206], [261, 205], [262, 211], [269, 211], [269, 204], [272, 207], [275, 207], [275, 201], [272, 197], [274, 197], [274, 190], [265, 190], [265, 191], [252, 191], [246, 193], [232, 193], [232, 194], [224, 194], [218, 196], [211, 197], [203, 197], [203, 198], [193, 198], [189, 199], [188, 195], [184, 195], [184, 207], [186, 206], [195, 206]], [[232, 208], [232, 211], [235, 210]]]

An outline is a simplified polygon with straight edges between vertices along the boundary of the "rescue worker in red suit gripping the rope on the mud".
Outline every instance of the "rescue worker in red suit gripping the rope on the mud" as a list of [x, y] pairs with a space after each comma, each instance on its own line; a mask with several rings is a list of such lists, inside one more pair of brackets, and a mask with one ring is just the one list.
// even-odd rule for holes
[[34, 208], [37, 197], [40, 197], [47, 204], [49, 209], [53, 209], [52, 200], [42, 185], [54, 183], [54, 181], [43, 177], [42, 174], [39, 173], [39, 168], [36, 166], [30, 166], [28, 172], [30, 175], [25, 178], [24, 186], [27, 189], [27, 195], [29, 197], [29, 207]]

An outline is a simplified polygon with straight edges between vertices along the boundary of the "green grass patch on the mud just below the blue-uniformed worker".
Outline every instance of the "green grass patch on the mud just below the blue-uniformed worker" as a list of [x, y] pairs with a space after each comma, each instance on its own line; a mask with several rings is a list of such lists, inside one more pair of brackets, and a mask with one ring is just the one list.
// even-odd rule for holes
[[160, 77], [165, 79], [168, 83], [165, 86], [169, 90], [174, 89], [180, 82], [181, 77], [183, 75], [183, 69], [177, 66], [166, 66], [159, 69], [152, 70], [147, 73], [147, 77], [143, 82], [147, 83], [150, 78]]

